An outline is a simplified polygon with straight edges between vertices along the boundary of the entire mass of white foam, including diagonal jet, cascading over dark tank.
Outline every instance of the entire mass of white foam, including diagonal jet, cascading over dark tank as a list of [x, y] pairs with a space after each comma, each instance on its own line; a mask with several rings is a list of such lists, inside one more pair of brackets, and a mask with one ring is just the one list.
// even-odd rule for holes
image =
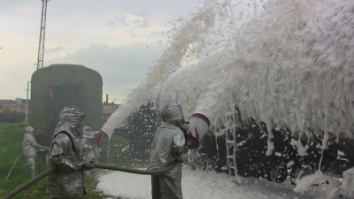
[[324, 132], [326, 149], [328, 132], [354, 138], [353, 33], [353, 1], [204, 1], [103, 130], [145, 100], [181, 103], [186, 119], [212, 125], [235, 102], [268, 132]]

